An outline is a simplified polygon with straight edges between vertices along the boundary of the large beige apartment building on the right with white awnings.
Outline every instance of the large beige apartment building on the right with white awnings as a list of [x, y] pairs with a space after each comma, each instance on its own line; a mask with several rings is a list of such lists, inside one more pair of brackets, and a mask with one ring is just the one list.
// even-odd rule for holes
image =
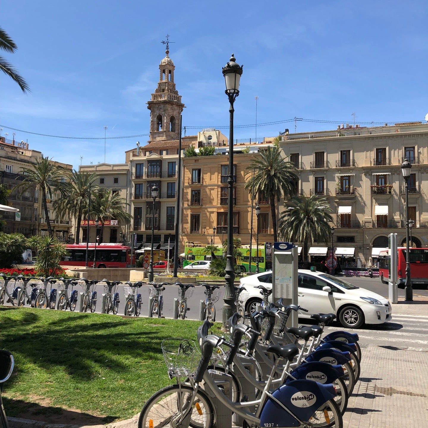
[[[279, 146], [298, 169], [298, 192], [330, 202], [336, 255], [366, 265], [388, 246], [390, 233], [397, 233], [398, 245], [405, 243], [400, 165], [407, 157], [413, 245], [428, 245], [428, 124], [339, 125], [334, 131], [286, 134]], [[315, 243], [309, 254], [322, 256], [330, 245]]]

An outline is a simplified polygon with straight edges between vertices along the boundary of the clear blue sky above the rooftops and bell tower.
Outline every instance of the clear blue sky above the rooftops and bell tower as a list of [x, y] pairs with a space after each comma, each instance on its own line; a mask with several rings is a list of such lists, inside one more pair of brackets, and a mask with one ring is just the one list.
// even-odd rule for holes
[[[166, 7], [162, 7], [164, 4]], [[221, 67], [244, 64], [235, 125], [294, 118], [297, 131], [356, 123], [422, 120], [428, 113], [426, 1], [3, 1], [0, 25], [18, 44], [2, 53], [26, 78], [24, 95], [0, 74], [2, 135], [16, 132], [55, 160], [104, 161], [104, 140], [148, 134], [150, 99], [167, 33], [187, 135], [227, 126]], [[190, 128], [190, 127], [197, 127]], [[294, 122], [259, 126], [274, 136]], [[228, 130], [222, 129], [228, 135]], [[236, 128], [235, 138], [256, 136]], [[137, 138], [107, 140], [107, 162], [123, 162]], [[146, 143], [147, 137], [139, 137]]]

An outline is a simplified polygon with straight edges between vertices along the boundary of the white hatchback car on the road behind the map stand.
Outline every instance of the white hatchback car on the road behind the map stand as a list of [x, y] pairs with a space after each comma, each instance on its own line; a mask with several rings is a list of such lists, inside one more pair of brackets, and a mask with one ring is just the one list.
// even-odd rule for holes
[[[299, 269], [298, 304], [309, 312], [299, 312], [299, 317], [310, 318], [312, 314], [334, 313], [346, 328], [359, 328], [366, 324], [383, 324], [390, 321], [391, 304], [373, 291], [360, 288], [336, 276], [322, 272]], [[257, 285], [272, 288], [272, 271], [241, 278], [249, 298], [245, 310], [250, 313], [262, 301]]]

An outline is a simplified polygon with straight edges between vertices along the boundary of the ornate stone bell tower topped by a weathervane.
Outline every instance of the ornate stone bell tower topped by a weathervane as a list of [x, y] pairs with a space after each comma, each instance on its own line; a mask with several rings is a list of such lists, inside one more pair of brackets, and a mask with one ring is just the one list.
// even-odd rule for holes
[[166, 56], [159, 64], [158, 87], [147, 103], [150, 110], [150, 141], [178, 140], [180, 137], [180, 115], [184, 104], [181, 103], [181, 95], [178, 95], [175, 89], [175, 66], [169, 58], [169, 43], [171, 42], [164, 43]]

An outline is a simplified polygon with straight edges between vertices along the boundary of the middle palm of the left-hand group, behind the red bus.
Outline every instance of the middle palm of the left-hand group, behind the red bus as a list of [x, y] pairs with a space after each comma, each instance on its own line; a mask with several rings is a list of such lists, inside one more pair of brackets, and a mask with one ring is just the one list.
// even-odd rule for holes
[[98, 178], [94, 172], [77, 172], [75, 169], [69, 175], [69, 181], [59, 187], [61, 196], [53, 202], [53, 208], [58, 213], [65, 213], [76, 220], [76, 244], [80, 239], [80, 223], [83, 214], [87, 212], [89, 187], [91, 193], [98, 190], [94, 181]]

